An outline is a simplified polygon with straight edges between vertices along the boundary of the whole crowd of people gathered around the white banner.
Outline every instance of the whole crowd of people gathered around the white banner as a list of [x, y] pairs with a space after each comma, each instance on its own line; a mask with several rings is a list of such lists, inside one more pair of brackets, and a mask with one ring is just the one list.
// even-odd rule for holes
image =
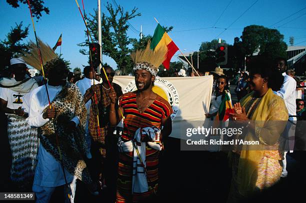
[[[105, 74], [100, 75], [85, 66], [80, 78], [54, 57], [43, 65], [43, 79], [42, 75], [31, 78], [22, 58], [10, 60], [11, 74], [0, 78], [0, 107], [7, 115], [14, 191], [33, 191], [36, 202], [49, 202], [61, 185], [65, 199], [73, 202], [78, 182], [92, 195], [110, 187], [116, 202], [138, 202], [158, 191], [160, 151], [172, 130], [172, 108], [152, 91], [165, 53], [148, 47], [131, 54], [137, 90], [124, 94], [113, 82], [114, 75], [121, 72], [110, 66], [104, 66]], [[248, 70], [240, 73], [236, 83], [235, 104], [223, 69], [210, 72], [213, 90], [206, 118], [224, 120], [224, 103], [229, 102], [228, 119], [247, 122], [245, 140], [281, 148], [278, 140], [285, 134], [288, 147], [248, 150], [244, 146], [229, 151], [228, 202], [237, 202], [287, 176], [286, 154], [294, 150], [295, 121], [306, 120], [303, 87], [296, 88], [303, 83], [287, 70], [284, 58], [273, 62], [258, 57]], [[180, 69], [173, 76], [187, 74]], [[266, 124], [276, 120], [289, 121]]]

